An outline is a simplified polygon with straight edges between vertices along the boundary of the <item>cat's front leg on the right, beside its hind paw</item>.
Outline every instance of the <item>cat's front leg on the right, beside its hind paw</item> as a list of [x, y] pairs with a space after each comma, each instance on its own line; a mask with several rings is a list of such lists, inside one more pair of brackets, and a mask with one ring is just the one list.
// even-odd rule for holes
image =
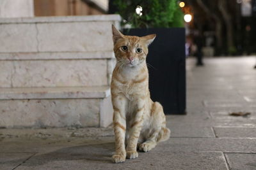
[[137, 143], [140, 138], [141, 127], [143, 125], [143, 113], [145, 108], [145, 102], [138, 100], [134, 107], [134, 117], [131, 121], [129, 129], [129, 139], [127, 140], [126, 154], [128, 159], [135, 159], [138, 157]]

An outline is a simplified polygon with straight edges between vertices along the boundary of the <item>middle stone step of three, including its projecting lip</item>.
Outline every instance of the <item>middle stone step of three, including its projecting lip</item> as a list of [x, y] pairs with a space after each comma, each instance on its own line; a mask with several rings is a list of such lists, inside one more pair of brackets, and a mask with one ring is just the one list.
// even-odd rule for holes
[[113, 52], [90, 54], [0, 53], [0, 88], [109, 85]]

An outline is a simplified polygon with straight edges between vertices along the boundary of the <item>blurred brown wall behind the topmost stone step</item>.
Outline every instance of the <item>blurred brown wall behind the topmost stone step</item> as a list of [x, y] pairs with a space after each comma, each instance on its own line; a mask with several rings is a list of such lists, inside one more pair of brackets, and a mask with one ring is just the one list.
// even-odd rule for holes
[[100, 15], [106, 13], [92, 1], [34, 0], [35, 16]]

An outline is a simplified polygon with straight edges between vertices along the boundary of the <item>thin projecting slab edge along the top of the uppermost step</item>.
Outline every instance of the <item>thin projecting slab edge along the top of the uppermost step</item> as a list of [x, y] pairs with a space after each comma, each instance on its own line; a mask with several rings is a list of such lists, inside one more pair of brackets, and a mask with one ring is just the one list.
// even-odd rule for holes
[[88, 22], [88, 21], [120, 21], [120, 15], [90, 15], [67, 17], [29, 17], [29, 18], [0, 18], [0, 24], [18, 23], [51, 23], [51, 22]]

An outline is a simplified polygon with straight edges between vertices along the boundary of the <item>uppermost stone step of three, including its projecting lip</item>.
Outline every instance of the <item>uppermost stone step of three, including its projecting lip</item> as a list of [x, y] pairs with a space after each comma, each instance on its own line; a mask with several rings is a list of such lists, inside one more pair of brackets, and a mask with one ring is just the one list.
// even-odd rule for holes
[[0, 53], [113, 50], [119, 15], [0, 18]]

